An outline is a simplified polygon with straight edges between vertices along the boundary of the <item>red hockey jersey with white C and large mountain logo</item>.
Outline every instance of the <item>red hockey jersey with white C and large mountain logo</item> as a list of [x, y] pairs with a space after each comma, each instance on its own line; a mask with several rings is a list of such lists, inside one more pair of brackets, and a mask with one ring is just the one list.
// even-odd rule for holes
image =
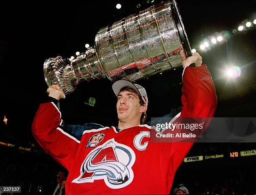
[[[212, 117], [215, 87], [205, 65], [183, 72], [179, 117]], [[61, 125], [54, 103], [40, 104], [32, 125], [35, 139], [67, 168], [66, 194], [169, 194], [174, 173], [193, 142], [152, 142], [148, 125], [118, 132], [115, 127], [85, 130], [79, 141]]]

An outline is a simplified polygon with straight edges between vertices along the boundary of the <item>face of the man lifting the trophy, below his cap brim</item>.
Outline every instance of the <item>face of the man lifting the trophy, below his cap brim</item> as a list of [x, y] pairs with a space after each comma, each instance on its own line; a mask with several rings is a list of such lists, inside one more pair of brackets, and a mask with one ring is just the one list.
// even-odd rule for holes
[[142, 107], [137, 94], [131, 91], [122, 91], [118, 94], [116, 109], [121, 122], [130, 122], [141, 119]]

